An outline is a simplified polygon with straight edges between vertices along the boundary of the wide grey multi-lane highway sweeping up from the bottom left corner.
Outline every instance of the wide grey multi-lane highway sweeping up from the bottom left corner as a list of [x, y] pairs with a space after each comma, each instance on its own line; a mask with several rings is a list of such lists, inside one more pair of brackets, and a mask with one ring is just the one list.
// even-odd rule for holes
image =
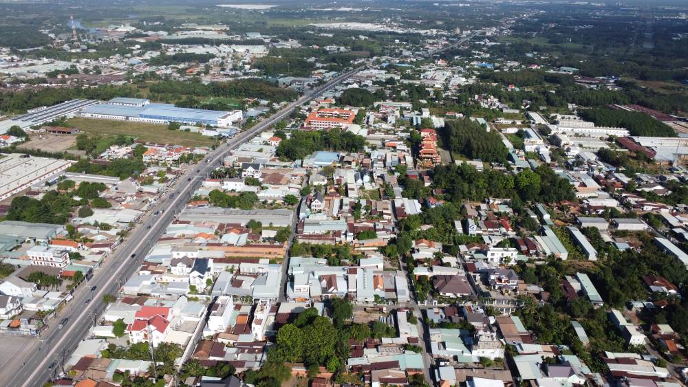
[[[350, 78], [360, 69], [363, 67], [341, 74], [321, 87], [309, 89], [297, 101], [288, 104], [248, 131], [241, 132], [218, 146], [200, 164], [189, 167], [186, 175], [182, 175], [176, 186], [160, 197], [158, 203], [155, 203], [151, 209], [151, 213], [158, 210], [164, 210], [164, 212], [160, 215], [144, 217], [138, 226], [131, 230], [127, 239], [96, 270], [93, 278], [80, 285], [80, 289], [74, 293], [74, 299], [67, 304], [57, 318], [50, 321], [51, 327], [43, 331], [41, 338], [32, 340], [22, 351], [19, 351], [14, 361], [2, 370], [0, 385], [41, 386], [43, 382], [63, 372], [63, 362], [69, 358], [79, 342], [88, 335], [96, 317], [105, 310], [103, 296], [118, 293], [121, 285], [136, 272], [143, 257], [153, 247], [167, 225], [186, 206], [186, 201], [200, 187], [204, 178], [222, 164], [227, 153], [250, 140], [257, 133], [268, 129], [275, 122], [288, 117], [297, 107]], [[92, 287], [96, 289], [91, 291]], [[63, 318], [68, 318], [68, 322], [60, 329], [57, 324]]]

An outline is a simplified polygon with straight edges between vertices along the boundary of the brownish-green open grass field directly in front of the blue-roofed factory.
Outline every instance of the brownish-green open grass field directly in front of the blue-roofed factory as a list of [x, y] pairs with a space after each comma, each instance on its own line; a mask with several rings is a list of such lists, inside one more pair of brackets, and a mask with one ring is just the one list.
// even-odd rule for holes
[[88, 134], [130, 135], [144, 142], [175, 144], [184, 146], [210, 146], [215, 142], [210, 137], [199, 133], [171, 131], [167, 126], [147, 124], [144, 122], [93, 120], [89, 118], [72, 118], [68, 126], [78, 128]]

